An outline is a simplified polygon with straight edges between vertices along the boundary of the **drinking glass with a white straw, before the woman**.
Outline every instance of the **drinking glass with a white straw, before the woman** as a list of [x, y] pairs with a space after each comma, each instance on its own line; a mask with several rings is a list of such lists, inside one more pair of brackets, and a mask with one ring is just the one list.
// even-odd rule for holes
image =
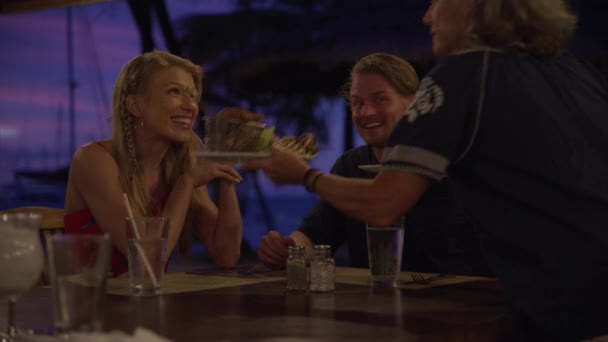
[[167, 261], [167, 217], [127, 218], [129, 284], [135, 296], [154, 296], [162, 291]]

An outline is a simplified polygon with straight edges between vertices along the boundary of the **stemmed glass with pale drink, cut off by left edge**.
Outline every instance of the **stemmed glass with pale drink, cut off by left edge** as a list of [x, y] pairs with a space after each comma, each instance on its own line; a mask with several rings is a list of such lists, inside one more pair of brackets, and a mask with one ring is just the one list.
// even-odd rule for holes
[[40, 280], [44, 255], [36, 213], [0, 214], [0, 296], [8, 297], [8, 326], [3, 341], [14, 341], [17, 298]]

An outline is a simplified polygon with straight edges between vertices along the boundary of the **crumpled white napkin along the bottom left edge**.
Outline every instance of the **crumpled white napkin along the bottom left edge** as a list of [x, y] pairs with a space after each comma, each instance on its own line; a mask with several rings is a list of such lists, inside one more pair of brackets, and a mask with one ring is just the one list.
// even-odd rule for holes
[[17, 340], [26, 342], [171, 342], [171, 340], [141, 327], [136, 328], [133, 335], [114, 330], [108, 333], [70, 333], [69, 336], [25, 335], [19, 336]]

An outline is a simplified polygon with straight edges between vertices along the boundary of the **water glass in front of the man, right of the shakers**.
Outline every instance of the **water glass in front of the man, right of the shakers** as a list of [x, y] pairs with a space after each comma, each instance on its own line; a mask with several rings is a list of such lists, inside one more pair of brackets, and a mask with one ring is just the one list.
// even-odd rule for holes
[[403, 253], [403, 217], [387, 226], [366, 225], [371, 286], [399, 286]]

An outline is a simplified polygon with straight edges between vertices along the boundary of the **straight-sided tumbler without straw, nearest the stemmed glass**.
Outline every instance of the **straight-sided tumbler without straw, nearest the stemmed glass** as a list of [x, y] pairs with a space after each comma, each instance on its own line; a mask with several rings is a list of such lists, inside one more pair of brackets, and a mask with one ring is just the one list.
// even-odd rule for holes
[[109, 234], [55, 234], [47, 240], [58, 333], [100, 331], [112, 244]]

